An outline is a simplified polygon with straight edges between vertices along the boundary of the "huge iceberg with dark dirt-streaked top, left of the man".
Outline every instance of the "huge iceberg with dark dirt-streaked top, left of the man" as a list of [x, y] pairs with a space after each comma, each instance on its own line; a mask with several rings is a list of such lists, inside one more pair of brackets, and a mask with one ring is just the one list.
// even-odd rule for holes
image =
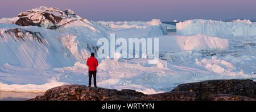
[[36, 69], [82, 63], [97, 51], [97, 40], [109, 29], [81, 18], [72, 10], [39, 7], [14, 18], [0, 19], [0, 64]]

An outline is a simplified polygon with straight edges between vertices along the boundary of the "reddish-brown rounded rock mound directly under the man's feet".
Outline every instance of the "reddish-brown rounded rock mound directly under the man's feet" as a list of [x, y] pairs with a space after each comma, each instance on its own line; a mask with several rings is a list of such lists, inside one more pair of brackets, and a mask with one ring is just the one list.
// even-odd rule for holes
[[91, 88], [84, 85], [65, 85], [47, 90], [44, 96], [30, 99], [32, 101], [113, 101], [134, 100], [145, 96], [135, 90], [124, 89], [121, 91], [105, 88]]

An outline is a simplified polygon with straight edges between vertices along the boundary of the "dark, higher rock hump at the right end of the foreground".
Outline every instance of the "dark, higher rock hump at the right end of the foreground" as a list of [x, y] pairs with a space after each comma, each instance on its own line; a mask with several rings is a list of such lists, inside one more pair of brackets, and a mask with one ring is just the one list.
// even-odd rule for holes
[[200, 100], [207, 100], [211, 94], [232, 94], [234, 96], [245, 96], [256, 98], [256, 82], [253, 80], [210, 80], [181, 84], [175, 91], [196, 92]]

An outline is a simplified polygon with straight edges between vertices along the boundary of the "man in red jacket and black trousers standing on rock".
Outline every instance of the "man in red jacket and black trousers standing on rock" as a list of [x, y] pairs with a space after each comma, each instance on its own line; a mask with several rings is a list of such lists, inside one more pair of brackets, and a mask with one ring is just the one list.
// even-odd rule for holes
[[88, 65], [89, 67], [89, 87], [90, 87], [90, 84], [92, 83], [92, 75], [93, 75], [94, 87], [97, 88], [96, 73], [97, 73], [97, 67], [98, 67], [98, 60], [94, 58], [93, 52], [90, 54], [90, 58], [87, 59], [86, 65]]

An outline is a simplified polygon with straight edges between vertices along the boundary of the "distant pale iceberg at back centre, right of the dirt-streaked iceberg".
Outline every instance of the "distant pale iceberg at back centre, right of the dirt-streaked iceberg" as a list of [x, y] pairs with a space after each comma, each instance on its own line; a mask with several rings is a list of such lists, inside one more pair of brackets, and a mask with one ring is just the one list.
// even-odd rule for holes
[[[131, 21], [131, 22], [104, 22], [98, 21], [101, 26], [109, 27], [118, 37], [150, 37], [167, 35], [167, 26], [160, 22], [160, 19], [151, 21]], [[136, 32], [136, 33], [134, 33]], [[138, 35], [139, 34], [139, 35]]]

